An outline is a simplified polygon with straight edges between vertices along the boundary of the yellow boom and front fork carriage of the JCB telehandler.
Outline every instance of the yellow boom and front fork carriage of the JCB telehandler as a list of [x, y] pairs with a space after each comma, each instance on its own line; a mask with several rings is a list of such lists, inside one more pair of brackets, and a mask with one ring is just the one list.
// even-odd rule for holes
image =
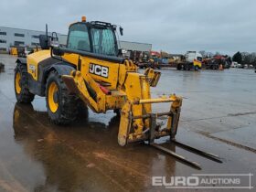
[[[150, 86], [155, 87], [160, 78], [160, 72], [146, 69], [144, 74], [139, 73], [137, 66], [131, 60], [124, 60], [123, 64], [81, 57], [76, 54], [65, 54], [63, 59], [77, 64], [80, 59], [80, 70], [73, 70], [70, 75], [63, 75], [70, 92], [80, 96], [93, 112], [121, 110], [118, 143], [125, 145], [135, 141], [149, 140], [149, 132], [154, 131], [152, 138], [165, 135], [175, 135], [179, 120], [181, 97], [170, 95], [165, 98], [152, 99]], [[97, 64], [108, 68], [108, 78], [91, 74], [90, 65]], [[110, 93], [102, 91], [101, 86]], [[90, 91], [95, 92], [96, 98]], [[153, 113], [152, 103], [172, 102], [170, 111]], [[154, 117], [154, 115], [155, 117]], [[157, 116], [166, 116], [167, 125], [160, 129], [157, 123], [153, 124]]]

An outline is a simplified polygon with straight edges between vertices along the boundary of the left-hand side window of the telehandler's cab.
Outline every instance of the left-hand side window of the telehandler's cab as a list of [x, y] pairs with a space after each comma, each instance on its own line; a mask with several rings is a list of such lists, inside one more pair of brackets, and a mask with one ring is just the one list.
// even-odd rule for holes
[[75, 24], [69, 27], [68, 48], [91, 51], [88, 28], [84, 24]]

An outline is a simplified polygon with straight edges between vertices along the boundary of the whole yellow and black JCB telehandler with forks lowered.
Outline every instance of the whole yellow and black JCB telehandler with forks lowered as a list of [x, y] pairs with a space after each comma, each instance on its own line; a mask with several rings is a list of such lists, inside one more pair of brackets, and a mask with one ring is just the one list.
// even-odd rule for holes
[[[123, 35], [123, 28], [119, 29]], [[175, 141], [182, 98], [172, 94], [152, 99], [150, 86], [156, 86], [161, 73], [146, 69], [141, 74], [131, 60], [119, 58], [116, 33], [116, 26], [87, 22], [83, 16], [80, 22], [69, 26], [65, 48], [59, 47], [56, 33], [50, 38], [48, 32], [41, 36], [42, 50], [16, 61], [16, 100], [29, 103], [35, 95], [45, 96], [48, 116], [58, 124], [75, 120], [81, 105], [98, 113], [120, 112], [120, 145], [148, 141], [169, 155], [199, 167], [153, 143], [156, 138], [168, 135]], [[153, 113], [152, 103], [159, 102], [171, 102], [170, 110]], [[158, 117], [165, 117], [165, 127], [156, 121]]]

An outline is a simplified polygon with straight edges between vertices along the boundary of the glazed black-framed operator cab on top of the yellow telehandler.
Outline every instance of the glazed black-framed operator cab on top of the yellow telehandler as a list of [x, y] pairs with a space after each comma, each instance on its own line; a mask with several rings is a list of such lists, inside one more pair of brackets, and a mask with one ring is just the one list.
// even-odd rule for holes
[[116, 26], [110, 23], [82, 20], [69, 26], [67, 48], [117, 57], [115, 31]]

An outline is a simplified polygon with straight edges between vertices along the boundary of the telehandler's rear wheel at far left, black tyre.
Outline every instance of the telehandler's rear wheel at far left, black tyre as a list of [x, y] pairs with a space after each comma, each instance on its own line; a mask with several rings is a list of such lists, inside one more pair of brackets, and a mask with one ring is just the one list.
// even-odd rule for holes
[[[20, 75], [20, 80], [18, 83], [20, 91], [17, 91], [18, 88], [16, 86], [17, 75]], [[27, 65], [26, 64], [22, 64], [22, 63], [16, 64], [14, 85], [15, 85], [16, 101], [17, 102], [30, 103], [34, 100], [35, 95], [33, 93], [31, 93], [28, 89], [28, 73], [27, 73]]]

